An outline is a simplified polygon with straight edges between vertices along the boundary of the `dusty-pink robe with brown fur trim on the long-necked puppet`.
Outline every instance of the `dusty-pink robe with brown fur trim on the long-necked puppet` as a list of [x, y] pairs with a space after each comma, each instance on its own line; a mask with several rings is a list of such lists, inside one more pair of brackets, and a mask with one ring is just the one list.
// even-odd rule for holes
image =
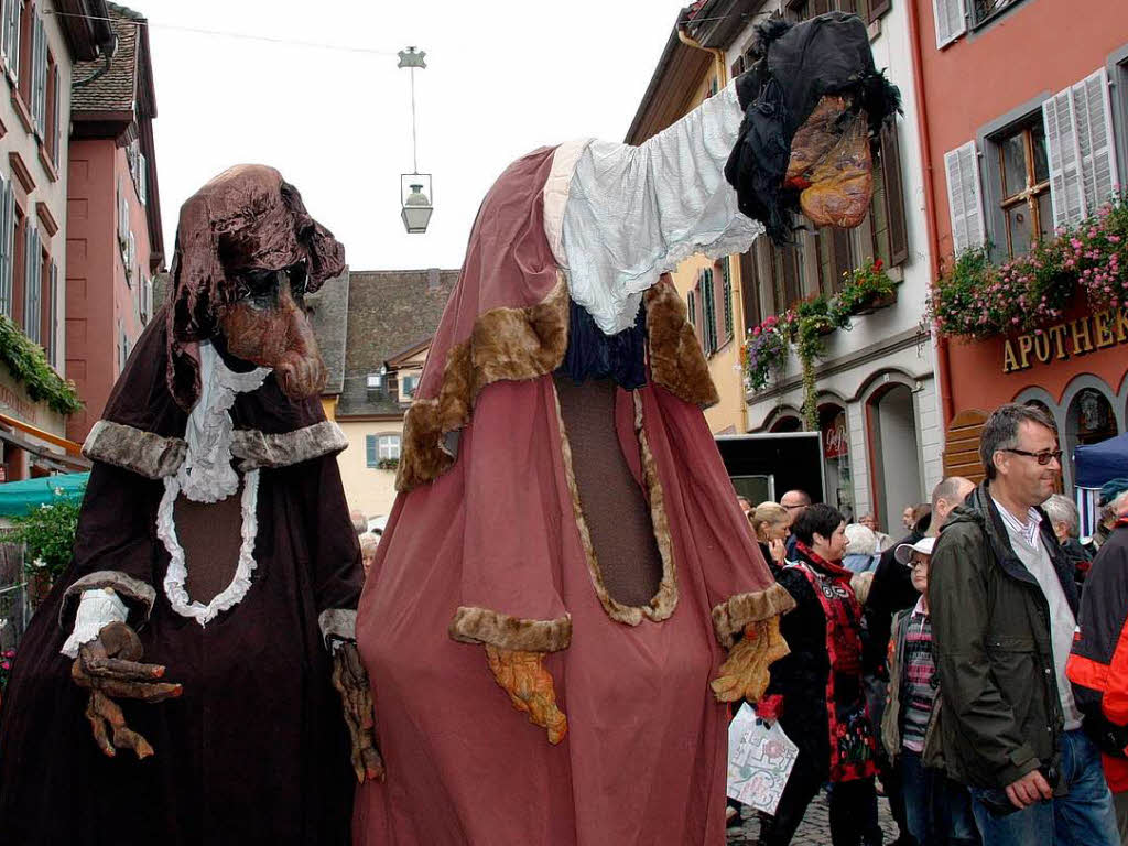
[[[716, 393], [668, 279], [645, 296], [649, 381], [617, 389], [614, 414], [661, 581], [641, 606], [610, 596], [552, 376], [570, 319], [553, 161], [527, 156], [486, 197], [405, 423], [356, 627], [387, 764], [358, 793], [361, 846], [721, 843], [726, 710], [708, 682], [735, 633], [792, 605], [700, 413]], [[549, 653], [559, 746], [481, 644]]]

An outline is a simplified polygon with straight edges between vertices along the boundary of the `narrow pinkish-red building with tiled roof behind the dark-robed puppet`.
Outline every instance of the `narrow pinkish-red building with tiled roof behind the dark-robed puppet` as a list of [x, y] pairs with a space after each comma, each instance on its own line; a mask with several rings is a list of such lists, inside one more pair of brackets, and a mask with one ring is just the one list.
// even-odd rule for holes
[[67, 373], [86, 407], [68, 420], [82, 441], [102, 416], [156, 308], [164, 267], [148, 28], [109, 5], [117, 46], [108, 63], [76, 68], [67, 239]]

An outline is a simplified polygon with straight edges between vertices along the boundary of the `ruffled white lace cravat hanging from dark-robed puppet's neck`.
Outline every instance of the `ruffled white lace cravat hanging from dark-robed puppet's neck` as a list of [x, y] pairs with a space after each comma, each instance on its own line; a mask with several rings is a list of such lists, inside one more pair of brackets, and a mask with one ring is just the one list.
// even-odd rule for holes
[[237, 394], [262, 387], [270, 368], [246, 373], [230, 370], [210, 342], [200, 344], [200, 399], [184, 432], [188, 453], [176, 474], [184, 495], [193, 502], [219, 502], [239, 490], [231, 466], [231, 406]]

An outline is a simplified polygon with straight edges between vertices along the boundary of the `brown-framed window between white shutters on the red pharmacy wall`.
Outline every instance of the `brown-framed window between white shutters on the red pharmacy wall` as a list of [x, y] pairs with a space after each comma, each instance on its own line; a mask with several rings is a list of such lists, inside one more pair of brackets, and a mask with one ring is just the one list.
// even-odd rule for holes
[[1046, 129], [1041, 121], [1013, 129], [995, 139], [998, 153], [998, 196], [1003, 219], [999, 247], [1007, 256], [1022, 255], [1054, 230]]

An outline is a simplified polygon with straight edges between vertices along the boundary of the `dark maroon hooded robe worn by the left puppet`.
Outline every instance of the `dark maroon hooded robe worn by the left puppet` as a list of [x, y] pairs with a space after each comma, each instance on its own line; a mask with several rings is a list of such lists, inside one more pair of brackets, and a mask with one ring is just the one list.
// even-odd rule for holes
[[[245, 592], [206, 625], [175, 607], [158, 528], [166, 482], [187, 451], [188, 414], [170, 386], [186, 405], [195, 402], [193, 342], [214, 331], [214, 308], [232, 293], [226, 273], [237, 266], [209, 265], [192, 245], [235, 258], [228, 236], [236, 235], [252, 266], [307, 258], [311, 289], [341, 270], [340, 245], [309, 219], [297, 192], [284, 183], [279, 192], [280, 178], [236, 168], [185, 204], [174, 263], [178, 308], [155, 316], [87, 439], [94, 469], [74, 558], [20, 643], [0, 712], [5, 846], [349, 839], [355, 778], [324, 640], [351, 628], [361, 587], [336, 464], [344, 435], [317, 397], [291, 400], [273, 373], [236, 395], [235, 467], [244, 491], [257, 478], [257, 503], [243, 499], [241, 523], [244, 543], [248, 514], [257, 526], [254, 569]], [[249, 228], [239, 222], [248, 209]], [[165, 680], [184, 686], [180, 698], [158, 704], [118, 700], [156, 750], [144, 760], [99, 751], [83, 716], [89, 693], [71, 681], [71, 660], [60, 654], [82, 591], [102, 587], [127, 603], [142, 660], [165, 664]]]

